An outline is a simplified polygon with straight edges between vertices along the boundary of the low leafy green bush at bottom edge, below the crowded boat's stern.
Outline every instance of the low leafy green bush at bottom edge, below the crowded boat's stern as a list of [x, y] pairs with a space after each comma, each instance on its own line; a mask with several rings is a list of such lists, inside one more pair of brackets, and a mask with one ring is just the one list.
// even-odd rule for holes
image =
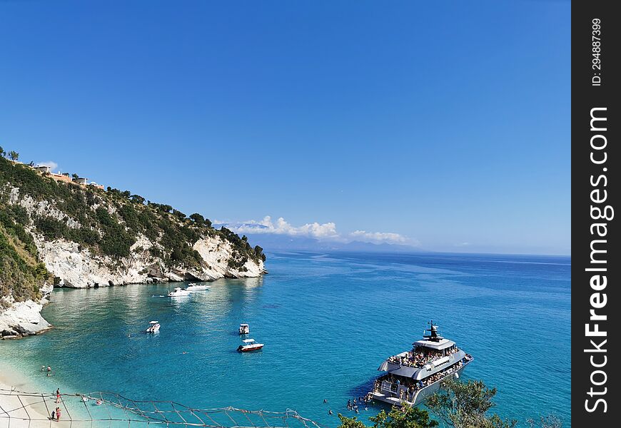
[[[344, 417], [338, 414], [340, 419], [339, 428], [365, 428], [365, 424], [355, 417]], [[426, 410], [418, 407], [396, 407], [394, 406], [390, 413], [382, 410], [377, 416], [370, 417], [373, 422], [373, 428], [433, 428], [438, 427], [438, 422], [430, 419]]]

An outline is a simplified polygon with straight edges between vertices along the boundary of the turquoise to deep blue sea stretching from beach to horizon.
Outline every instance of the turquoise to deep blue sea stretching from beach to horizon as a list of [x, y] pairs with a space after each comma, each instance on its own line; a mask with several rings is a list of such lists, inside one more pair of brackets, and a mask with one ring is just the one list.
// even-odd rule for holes
[[[498, 387], [495, 412], [522, 427], [552, 413], [570, 427], [570, 258], [273, 253], [266, 266], [176, 299], [157, 297], [173, 284], [55, 290], [43, 315], [56, 328], [1, 341], [0, 360], [49, 392], [296, 409], [335, 427], [380, 362], [433, 319], [475, 357], [463, 378]], [[143, 333], [150, 320], [158, 335]], [[263, 350], [236, 352], [240, 322]]]

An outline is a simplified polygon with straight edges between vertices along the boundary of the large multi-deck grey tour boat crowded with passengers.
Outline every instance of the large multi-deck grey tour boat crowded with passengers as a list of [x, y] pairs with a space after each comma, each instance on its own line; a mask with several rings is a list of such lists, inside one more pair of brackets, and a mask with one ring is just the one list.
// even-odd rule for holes
[[438, 391], [443, 379], [459, 377], [473, 361], [453, 340], [438, 334], [438, 325], [428, 324], [428, 334], [414, 342], [412, 350], [393, 355], [380, 365], [378, 370], [386, 373], [375, 380], [369, 393], [372, 399], [398, 406], [418, 405]]

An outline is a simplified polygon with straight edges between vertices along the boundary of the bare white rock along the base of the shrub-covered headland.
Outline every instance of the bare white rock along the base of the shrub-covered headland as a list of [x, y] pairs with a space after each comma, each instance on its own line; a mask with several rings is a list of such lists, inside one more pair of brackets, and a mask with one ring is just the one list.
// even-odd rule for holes
[[[228, 260], [233, 248], [219, 237], [201, 238], [193, 249], [205, 261], [195, 269], [167, 268], [153, 263], [148, 248], [153, 245], [146, 238], [133, 245], [128, 258], [110, 260], [94, 255], [88, 249], [67, 240], [46, 241], [35, 239], [41, 262], [59, 278], [56, 287], [108, 287], [113, 285], [151, 284], [153, 282], [213, 281], [220, 278], [258, 277], [267, 271], [263, 261], [248, 260], [242, 267], [231, 267]], [[49, 303], [52, 285], [41, 288], [43, 298], [39, 302], [9, 302], [6, 310], [0, 310], [0, 340], [19, 339], [38, 335], [52, 328], [41, 309]]]

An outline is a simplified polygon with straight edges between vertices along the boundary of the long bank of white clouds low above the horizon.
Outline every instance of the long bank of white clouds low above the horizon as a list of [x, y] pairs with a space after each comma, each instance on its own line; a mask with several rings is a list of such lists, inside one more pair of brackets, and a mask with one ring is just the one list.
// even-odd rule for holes
[[299, 236], [305, 238], [316, 238], [319, 240], [331, 240], [339, 242], [350, 242], [352, 240], [363, 241], [366, 243], [389, 243], [402, 245], [418, 245], [418, 241], [412, 240], [399, 233], [391, 232], [367, 232], [356, 230], [353, 233], [341, 234], [336, 230], [336, 224], [328, 223], [306, 223], [301, 226], [291, 225], [287, 220], [280, 217], [273, 221], [269, 215], [263, 220], [248, 220], [242, 223], [228, 223], [214, 221], [213, 223], [223, 223], [226, 228], [235, 233], [275, 233], [278, 235]]

